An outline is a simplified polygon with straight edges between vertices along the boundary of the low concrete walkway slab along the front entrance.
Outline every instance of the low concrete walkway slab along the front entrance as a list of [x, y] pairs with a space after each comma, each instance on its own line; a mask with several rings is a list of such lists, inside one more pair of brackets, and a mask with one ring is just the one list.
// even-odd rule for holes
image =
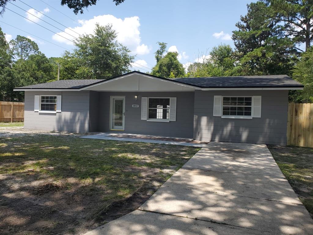
[[206, 146], [206, 144], [188, 143], [188, 142], [182, 142], [182, 141], [178, 142], [178, 141], [166, 141], [166, 140], [143, 139], [143, 138], [124, 138], [124, 137], [121, 138], [121, 137], [111, 136], [110, 133], [86, 135], [80, 138], [118, 140], [118, 141], [128, 141], [128, 142], [143, 142], [143, 143], [152, 143], [152, 144], [172, 144], [172, 145], [190, 146], [190, 147], [198, 147], [198, 148], [202, 148]]

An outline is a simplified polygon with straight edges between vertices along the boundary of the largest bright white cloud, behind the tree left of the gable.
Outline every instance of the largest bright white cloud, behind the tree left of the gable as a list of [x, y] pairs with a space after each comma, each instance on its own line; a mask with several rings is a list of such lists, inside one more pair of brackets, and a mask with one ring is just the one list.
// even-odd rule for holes
[[[139, 23], [138, 16], [126, 17], [124, 19], [121, 19], [121, 18], [116, 18], [113, 15], [98, 15], [88, 20], [79, 20], [78, 22], [80, 22], [80, 24], [82, 24], [83, 26], [77, 26], [77, 27], [70, 28], [70, 29], [72, 29], [73, 31], [81, 35], [82, 34], [94, 34], [96, 23], [98, 23], [101, 26], [112, 24], [112, 29], [114, 29], [117, 33], [117, 38], [116, 38], [117, 41], [119, 43], [122, 43], [124, 46], [128, 47], [132, 52], [143, 55], [143, 54], [149, 53], [151, 50], [147, 45], [141, 43], [140, 30], [139, 30], [140, 23]], [[75, 35], [73, 31], [67, 28], [65, 28], [64, 31], [75, 37], [78, 36], [77, 34]], [[74, 37], [71, 37], [66, 33], [59, 32], [58, 34], [70, 40], [74, 40]], [[52, 38], [61, 43], [66, 43], [69, 45], [73, 44], [69, 40], [62, 38], [57, 34], [54, 34]]]

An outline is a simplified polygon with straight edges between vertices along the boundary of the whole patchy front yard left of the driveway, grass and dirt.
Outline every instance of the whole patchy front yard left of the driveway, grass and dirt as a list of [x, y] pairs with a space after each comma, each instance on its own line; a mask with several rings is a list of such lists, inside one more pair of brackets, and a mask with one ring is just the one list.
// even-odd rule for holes
[[74, 135], [0, 138], [0, 233], [80, 233], [85, 230], [72, 227], [96, 227], [108, 220], [112, 205], [116, 217], [134, 209], [133, 201], [127, 208], [116, 203], [151, 196], [198, 150]]

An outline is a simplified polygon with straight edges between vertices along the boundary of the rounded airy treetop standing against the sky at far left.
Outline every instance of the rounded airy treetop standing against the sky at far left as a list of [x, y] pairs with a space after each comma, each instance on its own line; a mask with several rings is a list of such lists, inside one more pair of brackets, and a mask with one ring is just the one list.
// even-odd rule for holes
[[29, 55], [39, 52], [37, 43], [20, 35], [17, 35], [16, 39], [12, 39], [10, 45], [11, 54], [16, 60], [27, 60]]

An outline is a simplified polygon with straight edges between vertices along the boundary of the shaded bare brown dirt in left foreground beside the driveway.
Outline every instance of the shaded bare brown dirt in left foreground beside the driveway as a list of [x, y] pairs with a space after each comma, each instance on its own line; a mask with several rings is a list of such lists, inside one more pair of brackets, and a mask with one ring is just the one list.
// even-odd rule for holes
[[0, 175], [0, 234], [83, 234], [141, 206], [163, 183], [155, 174], [155, 169], [144, 169], [146, 182], [106, 208], [101, 186], [73, 179], [56, 182], [36, 172]]

